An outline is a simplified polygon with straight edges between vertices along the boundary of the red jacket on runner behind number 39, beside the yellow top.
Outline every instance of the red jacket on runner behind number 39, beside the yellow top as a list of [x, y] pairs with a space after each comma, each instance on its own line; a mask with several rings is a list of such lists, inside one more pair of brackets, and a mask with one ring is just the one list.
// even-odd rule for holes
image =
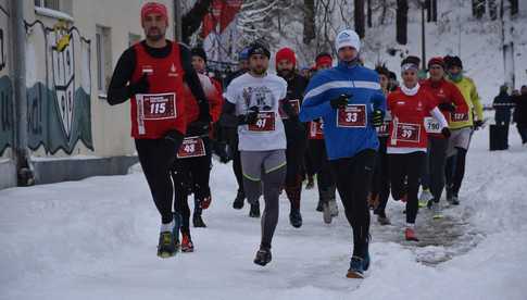
[[[439, 82], [432, 82], [430, 78], [423, 80], [421, 86], [425, 88], [436, 100], [437, 104], [451, 103], [455, 107], [455, 112], [450, 113], [449, 111], [441, 111], [444, 118], [450, 122], [453, 116], [456, 118], [468, 117], [468, 105], [466, 104], [465, 98], [461, 93], [460, 89], [452, 83], [447, 82], [444, 78]], [[444, 138], [439, 134], [428, 134], [434, 137]]]

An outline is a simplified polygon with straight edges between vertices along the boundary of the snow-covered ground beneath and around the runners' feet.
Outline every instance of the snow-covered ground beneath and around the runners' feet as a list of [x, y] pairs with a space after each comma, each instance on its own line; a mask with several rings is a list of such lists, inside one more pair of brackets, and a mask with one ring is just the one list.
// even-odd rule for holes
[[209, 228], [193, 229], [195, 253], [158, 259], [159, 217], [142, 174], [0, 191], [0, 299], [525, 299], [527, 149], [511, 128], [511, 149], [489, 152], [488, 130], [468, 153], [462, 205], [447, 217], [418, 216], [423, 241], [373, 223], [373, 265], [344, 277], [351, 232], [342, 215], [324, 225], [316, 193], [303, 193], [304, 225], [288, 222], [273, 262], [252, 263], [260, 222], [230, 208], [230, 165], [215, 164]]

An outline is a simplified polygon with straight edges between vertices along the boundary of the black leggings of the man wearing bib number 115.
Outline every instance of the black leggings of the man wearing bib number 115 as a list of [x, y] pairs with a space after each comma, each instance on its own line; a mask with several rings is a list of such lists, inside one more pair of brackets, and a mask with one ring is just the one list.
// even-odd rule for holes
[[142, 172], [147, 177], [150, 192], [163, 224], [168, 224], [174, 220], [172, 215], [174, 189], [170, 167], [176, 158], [176, 149], [179, 148], [181, 141], [183, 135], [177, 137], [176, 142], [165, 139], [135, 140]]

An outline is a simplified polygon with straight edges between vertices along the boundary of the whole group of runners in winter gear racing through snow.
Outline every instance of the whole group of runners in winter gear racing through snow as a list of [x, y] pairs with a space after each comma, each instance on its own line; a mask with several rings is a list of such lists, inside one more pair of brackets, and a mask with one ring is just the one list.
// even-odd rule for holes
[[165, 39], [163, 4], [146, 3], [141, 25], [146, 39], [118, 60], [108, 101], [130, 99], [131, 136], [161, 214], [159, 257], [193, 251], [188, 196], [195, 199], [193, 226], [205, 227], [213, 143], [224, 137], [238, 182], [233, 207], [242, 209], [247, 199], [249, 215], [261, 215], [259, 265], [272, 260], [280, 193], [290, 201], [290, 224], [301, 227], [302, 183], [312, 187], [315, 176], [324, 222], [338, 215], [338, 191], [352, 227], [351, 278], [369, 267], [369, 209], [381, 225], [390, 224], [390, 193], [406, 203], [404, 237], [412, 241], [418, 240], [419, 198], [435, 217], [441, 217], [444, 187], [449, 203], [460, 203], [470, 136], [484, 118], [459, 58], [430, 59], [429, 78], [419, 78], [419, 60], [407, 57], [398, 87], [385, 66], [363, 66], [361, 40], [346, 29], [336, 37], [338, 64], [319, 53], [311, 78], [298, 74], [290, 48], [276, 52], [277, 75], [272, 74], [268, 47], [254, 42], [222, 87], [206, 75], [202, 49]]

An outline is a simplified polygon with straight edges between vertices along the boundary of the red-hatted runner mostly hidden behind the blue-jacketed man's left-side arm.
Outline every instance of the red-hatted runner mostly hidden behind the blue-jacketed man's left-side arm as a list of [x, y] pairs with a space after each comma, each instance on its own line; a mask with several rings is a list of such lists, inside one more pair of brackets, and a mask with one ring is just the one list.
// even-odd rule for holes
[[[317, 72], [330, 68], [331, 64], [331, 54], [323, 52], [316, 57], [315, 66]], [[324, 222], [330, 224], [332, 217], [338, 215], [339, 210], [336, 200], [337, 186], [331, 173], [329, 160], [327, 159], [326, 145], [324, 142], [324, 122], [318, 117], [308, 122], [308, 153], [312, 172], [316, 174], [316, 186], [318, 189], [318, 204], [316, 210], [323, 212]]]

